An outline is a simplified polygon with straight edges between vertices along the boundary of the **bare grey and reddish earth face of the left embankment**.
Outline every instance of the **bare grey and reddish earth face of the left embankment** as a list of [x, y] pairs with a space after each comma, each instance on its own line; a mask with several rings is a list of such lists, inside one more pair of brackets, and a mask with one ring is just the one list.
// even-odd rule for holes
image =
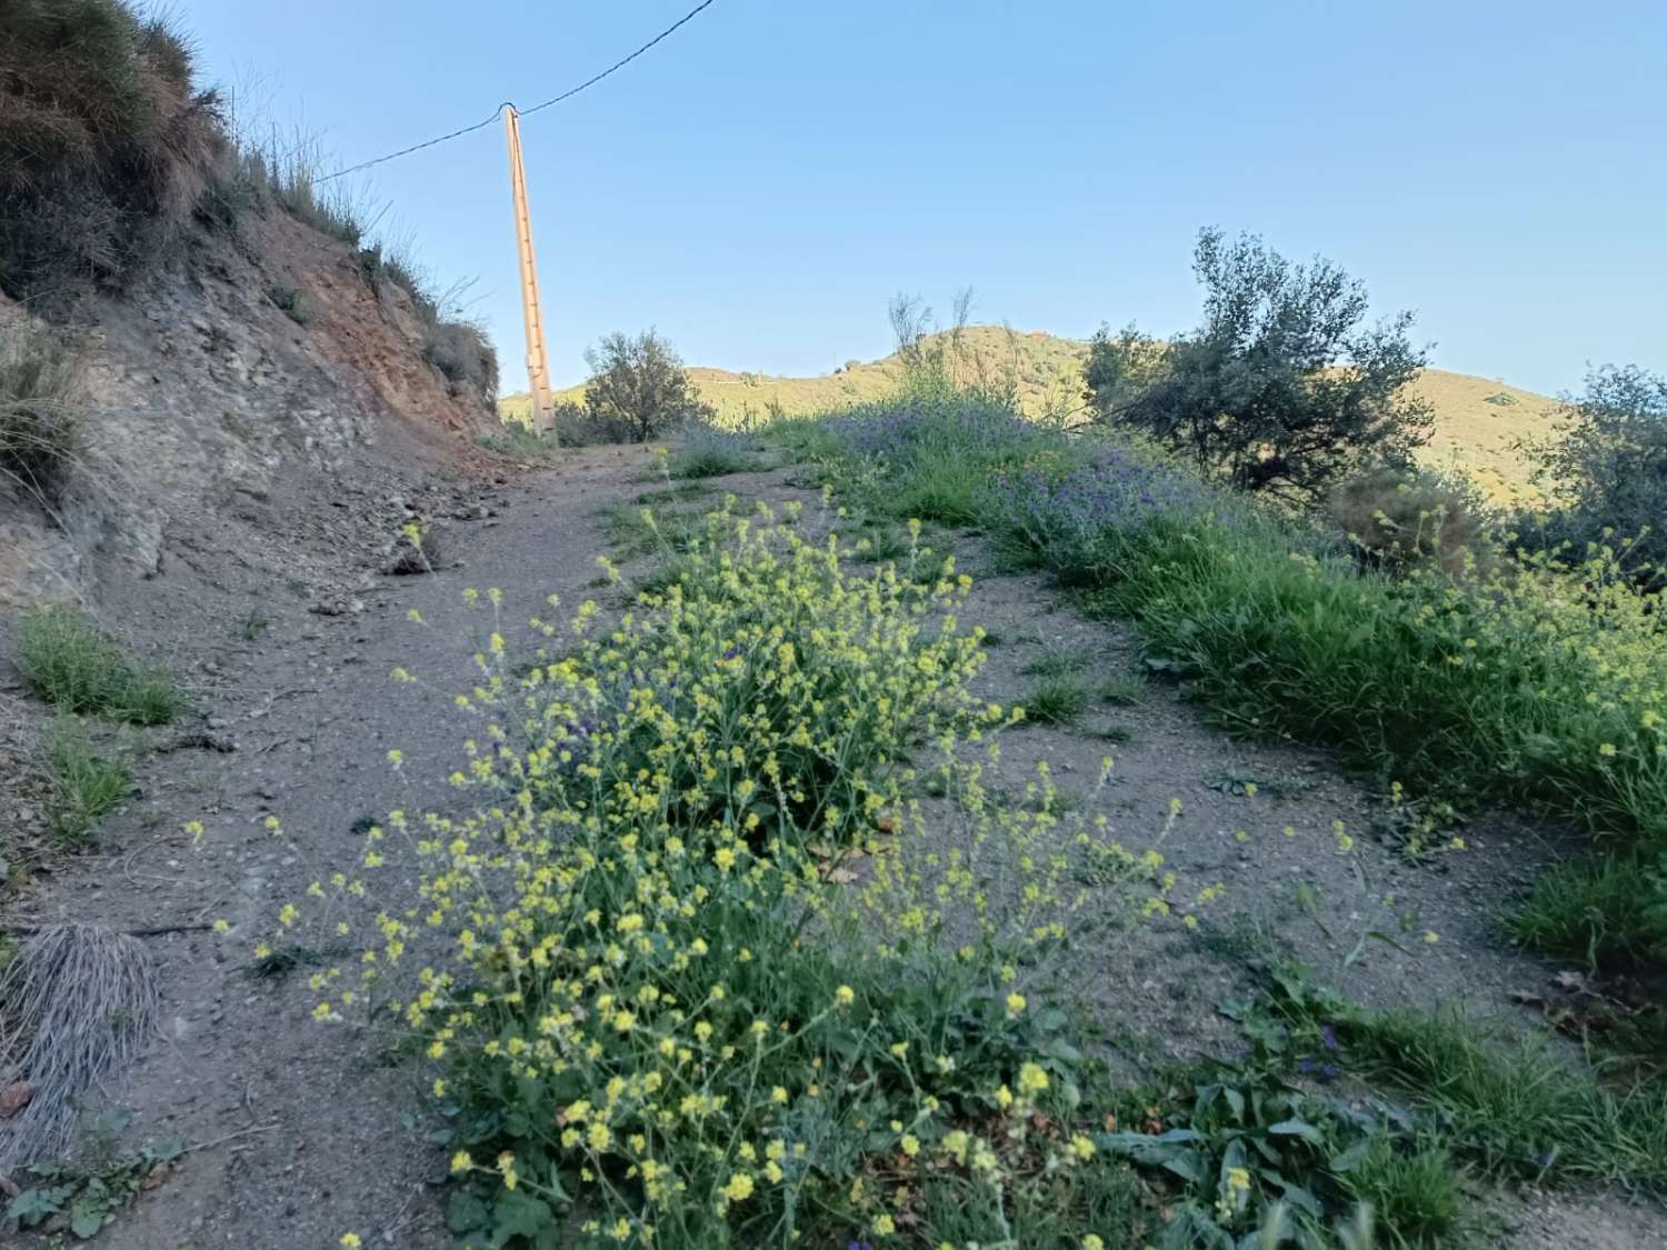
[[[47, 328], [78, 352], [78, 450], [55, 500], [0, 485], [0, 607], [155, 577], [187, 522], [258, 545], [280, 482], [328, 507], [360, 460], [472, 458], [497, 423], [490, 370], [432, 363], [432, 310], [370, 255], [265, 205]], [[0, 335], [40, 330], [0, 295]]]

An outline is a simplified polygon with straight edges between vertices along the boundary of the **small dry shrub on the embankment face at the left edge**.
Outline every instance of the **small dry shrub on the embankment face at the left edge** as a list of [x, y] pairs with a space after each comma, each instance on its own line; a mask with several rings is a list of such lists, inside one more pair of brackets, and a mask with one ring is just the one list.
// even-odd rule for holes
[[0, 478], [48, 507], [82, 450], [78, 355], [45, 328], [8, 328], [0, 342]]

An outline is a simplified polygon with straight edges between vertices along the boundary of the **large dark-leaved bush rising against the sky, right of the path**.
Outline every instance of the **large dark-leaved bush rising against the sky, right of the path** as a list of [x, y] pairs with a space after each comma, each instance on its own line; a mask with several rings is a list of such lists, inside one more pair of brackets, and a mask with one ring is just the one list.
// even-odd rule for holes
[[1304, 503], [1429, 440], [1429, 407], [1404, 392], [1425, 365], [1410, 313], [1364, 325], [1357, 280], [1324, 258], [1292, 265], [1250, 235], [1202, 230], [1194, 272], [1205, 285], [1197, 330], [1167, 345], [1134, 328], [1094, 340], [1085, 380], [1100, 420]]

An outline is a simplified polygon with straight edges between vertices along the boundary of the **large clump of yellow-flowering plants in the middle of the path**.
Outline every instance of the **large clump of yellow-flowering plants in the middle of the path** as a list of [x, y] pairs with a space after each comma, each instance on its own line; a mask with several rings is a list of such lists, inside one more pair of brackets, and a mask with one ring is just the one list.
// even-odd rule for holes
[[[1010, 722], [965, 688], [977, 637], [945, 623], [964, 593], [717, 513], [613, 630], [592, 638], [582, 605], [572, 645], [518, 678], [492, 635], [463, 702], [493, 745], [453, 777], [477, 805], [390, 813], [310, 912], [370, 925], [365, 962], [315, 978], [315, 1013], [392, 992], [438, 1067], [470, 1183], [453, 1232], [733, 1247], [1007, 1225], [1064, 1248], [1130, 1213], [1075, 1118], [1065, 1013], [1014, 978], [1057, 965], [1072, 915], [1134, 920], [1162, 885], [1049, 787], [1012, 810], [962, 762]], [[910, 753], [955, 788], [930, 835]], [[422, 880], [388, 905], [365, 880], [400, 840]], [[427, 922], [395, 918], [418, 895]], [[418, 950], [410, 992], [385, 983]]]

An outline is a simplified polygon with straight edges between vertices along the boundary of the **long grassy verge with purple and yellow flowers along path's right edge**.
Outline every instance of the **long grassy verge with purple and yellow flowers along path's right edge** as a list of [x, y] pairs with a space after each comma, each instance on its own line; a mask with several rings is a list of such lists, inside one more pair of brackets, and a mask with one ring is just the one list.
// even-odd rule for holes
[[862, 507], [979, 525], [1134, 622], [1234, 728], [1324, 743], [1385, 787], [1577, 822], [1600, 855], [1537, 897], [1524, 935], [1659, 945], [1662, 877], [1605, 867], [1667, 850], [1667, 645], [1624, 552], [1390, 578], [1137, 443], [930, 383], [780, 437]]

